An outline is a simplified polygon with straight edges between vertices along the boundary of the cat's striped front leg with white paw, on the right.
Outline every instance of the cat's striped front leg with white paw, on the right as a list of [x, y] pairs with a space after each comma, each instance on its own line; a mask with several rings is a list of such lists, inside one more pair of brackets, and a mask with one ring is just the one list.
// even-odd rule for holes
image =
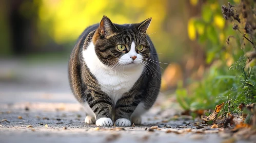
[[131, 126], [131, 114], [137, 105], [131, 95], [119, 99], [115, 105], [115, 126]]

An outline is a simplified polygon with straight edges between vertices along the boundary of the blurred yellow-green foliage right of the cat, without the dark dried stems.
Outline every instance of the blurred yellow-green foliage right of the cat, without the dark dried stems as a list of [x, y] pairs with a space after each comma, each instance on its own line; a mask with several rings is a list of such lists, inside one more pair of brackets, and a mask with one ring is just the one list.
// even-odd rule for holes
[[253, 48], [240, 32], [233, 30], [234, 23], [243, 29], [245, 19], [239, 23], [222, 18], [223, 4], [230, 2], [238, 10], [242, 4], [240, 1], [218, 2], [206, 1], [201, 17], [192, 17], [188, 22], [189, 38], [204, 48], [209, 68], [201, 81], [187, 80], [188, 87], [178, 86], [176, 98], [185, 110], [214, 109], [221, 102], [229, 102], [230, 107], [237, 110], [241, 103], [256, 102], [256, 70], [253, 66], [246, 68], [244, 56]]

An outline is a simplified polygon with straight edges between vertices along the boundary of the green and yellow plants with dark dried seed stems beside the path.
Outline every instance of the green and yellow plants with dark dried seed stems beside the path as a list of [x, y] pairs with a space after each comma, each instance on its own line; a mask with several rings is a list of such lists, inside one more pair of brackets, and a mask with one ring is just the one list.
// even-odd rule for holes
[[[213, 4], [218, 5], [218, 11], [210, 14], [207, 9]], [[201, 81], [193, 81], [187, 88], [179, 86], [176, 90], [176, 98], [185, 110], [213, 109], [216, 104], [225, 102], [228, 103], [225, 111], [238, 112], [239, 104], [256, 102], [255, 7], [249, 0], [222, 7], [214, 1], [203, 5], [202, 18], [196, 18], [192, 25], [198, 32], [198, 42], [205, 47], [206, 63], [211, 66]], [[214, 22], [220, 8], [223, 17], [230, 21], [222, 29]], [[203, 32], [200, 26], [204, 27]], [[223, 36], [227, 37], [224, 42]]]

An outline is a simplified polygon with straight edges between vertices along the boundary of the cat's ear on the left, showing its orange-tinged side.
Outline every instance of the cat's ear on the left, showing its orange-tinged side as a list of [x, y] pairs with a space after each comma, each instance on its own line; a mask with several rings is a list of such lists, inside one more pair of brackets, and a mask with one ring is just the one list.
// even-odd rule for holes
[[108, 37], [116, 31], [116, 27], [107, 16], [103, 16], [100, 22], [99, 32], [101, 35]]

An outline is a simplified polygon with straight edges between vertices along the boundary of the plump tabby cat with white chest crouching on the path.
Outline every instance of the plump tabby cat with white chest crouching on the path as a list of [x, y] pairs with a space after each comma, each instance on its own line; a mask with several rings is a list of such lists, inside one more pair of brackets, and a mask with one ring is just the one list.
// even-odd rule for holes
[[[118, 25], [103, 16], [78, 38], [68, 74], [75, 98], [96, 126], [141, 124], [161, 86], [156, 50], [141, 23]], [[113, 122], [114, 121], [114, 122]]]

